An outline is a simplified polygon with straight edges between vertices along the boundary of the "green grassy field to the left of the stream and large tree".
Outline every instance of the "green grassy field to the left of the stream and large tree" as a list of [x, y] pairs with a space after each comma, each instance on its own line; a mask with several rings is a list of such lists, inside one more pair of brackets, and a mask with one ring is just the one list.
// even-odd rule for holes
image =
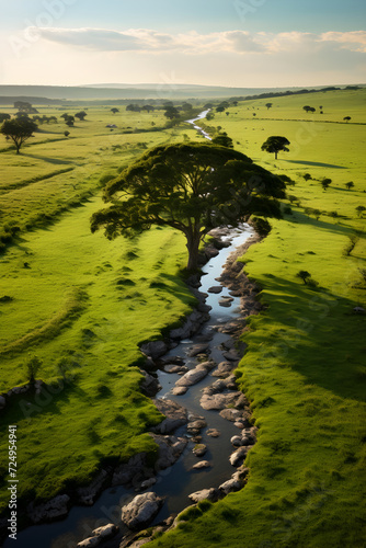
[[[103, 176], [115, 175], [147, 147], [195, 132], [106, 134], [105, 122], [119, 125], [118, 115], [106, 109], [88, 116], [71, 128], [72, 139], [55, 125], [50, 135], [61, 140], [47, 134], [46, 142], [35, 134], [20, 156], [0, 153], [2, 230], [12, 221], [21, 230], [0, 255], [0, 298], [10, 297], [0, 301], [0, 391], [27, 381], [26, 363], [34, 356], [42, 361], [37, 378], [46, 383], [42, 395], [15, 396], [1, 412], [1, 478], [5, 432], [15, 423], [21, 498], [47, 499], [88, 481], [101, 463], [155, 453], [144, 433], [159, 413], [139, 390], [138, 344], [194, 302], [180, 276], [186, 261], [180, 233], [156, 229], [108, 242], [102, 232], [91, 235], [90, 216], [103, 207]], [[119, 119], [123, 127], [146, 129], [163, 123], [152, 113], [123, 113]], [[1, 510], [8, 504], [3, 487]]]

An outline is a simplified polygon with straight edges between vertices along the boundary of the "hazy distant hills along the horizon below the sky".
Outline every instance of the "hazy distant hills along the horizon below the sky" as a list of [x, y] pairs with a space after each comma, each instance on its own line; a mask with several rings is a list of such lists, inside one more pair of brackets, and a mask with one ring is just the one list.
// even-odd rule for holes
[[[320, 90], [310, 87], [308, 90]], [[32, 104], [53, 104], [69, 101], [128, 101], [128, 100], [179, 100], [179, 99], [228, 99], [267, 93], [299, 92], [300, 88], [225, 88], [218, 85], [169, 84], [169, 83], [95, 83], [72, 85], [0, 85], [0, 104], [30, 101]], [[305, 90], [307, 91], [307, 90]]]

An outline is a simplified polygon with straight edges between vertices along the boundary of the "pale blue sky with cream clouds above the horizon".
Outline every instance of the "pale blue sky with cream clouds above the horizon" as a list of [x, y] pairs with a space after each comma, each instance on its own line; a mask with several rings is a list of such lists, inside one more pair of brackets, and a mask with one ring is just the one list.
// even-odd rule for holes
[[0, 0], [0, 84], [366, 82], [365, 0]]

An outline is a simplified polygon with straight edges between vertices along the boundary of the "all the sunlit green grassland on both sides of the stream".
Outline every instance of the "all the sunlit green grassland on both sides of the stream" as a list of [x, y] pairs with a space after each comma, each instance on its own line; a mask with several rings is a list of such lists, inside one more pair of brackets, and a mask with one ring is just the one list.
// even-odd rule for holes
[[[273, 103], [268, 111], [266, 102]], [[322, 105], [324, 114], [307, 115], [306, 104]], [[288, 195], [296, 199], [285, 201], [284, 219], [271, 221], [270, 236], [243, 258], [265, 307], [242, 335], [249, 346], [237, 372], [259, 427], [247, 460], [249, 482], [215, 505], [187, 512], [174, 532], [149, 546], [366, 544], [365, 316], [353, 313], [366, 306], [365, 220], [356, 215], [366, 205], [364, 104], [364, 90], [313, 93], [241, 102], [209, 122], [256, 163], [290, 176]], [[60, 140], [37, 135], [21, 156], [0, 153], [0, 221], [16, 221], [22, 230], [0, 256], [0, 297], [13, 298], [0, 302], [1, 390], [26, 381], [24, 364], [33, 355], [43, 362], [37, 377], [47, 383], [43, 399], [16, 396], [1, 413], [1, 463], [8, 424], [16, 423], [21, 494], [28, 498], [88, 481], [101, 463], [153, 454], [145, 433], [159, 413], [139, 392], [137, 345], [193, 304], [180, 276], [186, 259], [180, 233], [155, 229], [113, 242], [90, 235], [103, 175], [145, 146], [196, 138], [187, 125], [126, 135], [122, 128], [139, 123], [160, 126], [160, 114], [122, 112], [121, 123], [117, 116], [108, 107], [89, 109], [68, 139], [64, 124], [50, 125], [55, 135], [47, 138]], [[107, 123], [121, 132], [106, 133]], [[291, 142], [277, 160], [261, 151], [271, 135]], [[327, 191], [322, 178], [332, 180]], [[346, 190], [350, 181], [355, 186]], [[47, 217], [37, 228], [39, 212]], [[319, 285], [305, 285], [296, 276], [300, 270]]]

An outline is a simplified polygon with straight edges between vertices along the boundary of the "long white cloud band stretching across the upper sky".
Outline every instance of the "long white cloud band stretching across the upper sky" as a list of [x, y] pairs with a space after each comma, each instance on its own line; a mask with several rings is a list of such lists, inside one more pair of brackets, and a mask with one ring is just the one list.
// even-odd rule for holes
[[366, 32], [312, 33], [249, 33], [227, 31], [218, 33], [185, 34], [160, 33], [149, 28], [113, 31], [105, 28], [39, 28], [30, 27], [31, 35], [58, 44], [83, 47], [101, 52], [148, 52], [206, 54], [231, 52], [237, 54], [273, 54], [295, 50], [319, 50], [325, 43], [334, 48], [366, 52]]

